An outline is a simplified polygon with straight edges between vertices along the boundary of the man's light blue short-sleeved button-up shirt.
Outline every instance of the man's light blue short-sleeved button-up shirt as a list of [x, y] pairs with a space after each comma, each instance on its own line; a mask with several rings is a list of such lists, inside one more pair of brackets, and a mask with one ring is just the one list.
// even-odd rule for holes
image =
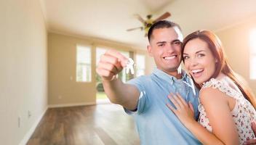
[[198, 94], [193, 80], [183, 72], [183, 78], [177, 79], [167, 73], [155, 69], [151, 75], [140, 76], [129, 80], [140, 91], [137, 111], [125, 111], [135, 117], [140, 144], [201, 144], [193, 134], [180, 123], [180, 120], [166, 106], [172, 104], [167, 95], [179, 93], [188, 102], [191, 101], [198, 115]]

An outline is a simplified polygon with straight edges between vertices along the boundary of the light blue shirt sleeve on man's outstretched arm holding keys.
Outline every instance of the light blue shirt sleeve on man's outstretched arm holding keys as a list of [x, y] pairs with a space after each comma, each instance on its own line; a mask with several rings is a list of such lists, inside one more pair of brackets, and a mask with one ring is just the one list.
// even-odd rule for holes
[[147, 91], [145, 90], [146, 80], [143, 79], [143, 76], [142, 76], [139, 78], [129, 80], [127, 83], [135, 86], [140, 92], [140, 96], [137, 102], [137, 109], [129, 110], [124, 108], [124, 111], [127, 112], [128, 115], [143, 113], [145, 111], [145, 106], [148, 103], [148, 95], [147, 95]]

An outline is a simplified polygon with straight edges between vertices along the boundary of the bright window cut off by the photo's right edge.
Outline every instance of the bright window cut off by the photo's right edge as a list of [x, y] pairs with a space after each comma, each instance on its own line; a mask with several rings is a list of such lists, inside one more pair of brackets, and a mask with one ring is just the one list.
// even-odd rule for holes
[[249, 76], [250, 79], [256, 79], [256, 29], [252, 30], [250, 37], [250, 61], [249, 61]]

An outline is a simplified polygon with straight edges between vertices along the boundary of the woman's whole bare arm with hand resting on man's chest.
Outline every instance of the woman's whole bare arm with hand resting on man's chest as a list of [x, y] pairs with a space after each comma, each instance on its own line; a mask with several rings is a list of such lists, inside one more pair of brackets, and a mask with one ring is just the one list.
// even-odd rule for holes
[[214, 134], [197, 123], [196, 120], [193, 120], [192, 104], [188, 106], [181, 96], [169, 96], [177, 109], [170, 106], [170, 104], [167, 104], [167, 106], [202, 144], [239, 144], [239, 137], [228, 107], [227, 96], [217, 89], [205, 88], [201, 90], [199, 97], [207, 112]]

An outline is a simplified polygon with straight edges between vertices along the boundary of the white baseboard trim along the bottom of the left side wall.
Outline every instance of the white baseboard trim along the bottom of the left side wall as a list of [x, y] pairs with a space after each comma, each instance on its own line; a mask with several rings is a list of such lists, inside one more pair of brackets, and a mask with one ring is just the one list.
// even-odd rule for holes
[[41, 114], [41, 116], [39, 116], [39, 118], [36, 120], [36, 122], [33, 123], [31, 129], [28, 130], [28, 132], [23, 137], [23, 140], [20, 141], [19, 145], [25, 145], [28, 143], [28, 140], [31, 138], [33, 132], [36, 130], [37, 125], [39, 125], [41, 118], [44, 117], [45, 112], [47, 112], [47, 109], [48, 109], [48, 107], [46, 107], [46, 109], [44, 109], [44, 112]]

